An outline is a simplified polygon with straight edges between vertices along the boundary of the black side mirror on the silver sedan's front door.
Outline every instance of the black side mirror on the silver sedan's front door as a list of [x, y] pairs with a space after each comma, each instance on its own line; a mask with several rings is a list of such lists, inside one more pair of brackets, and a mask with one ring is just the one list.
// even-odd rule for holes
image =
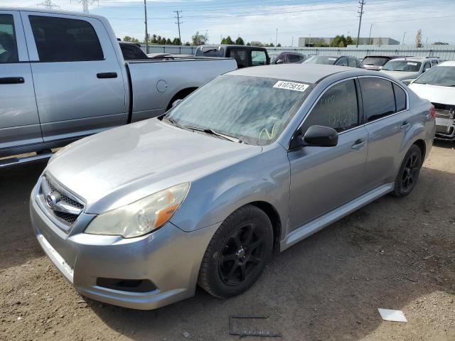
[[291, 149], [314, 146], [334, 147], [338, 144], [338, 133], [328, 126], [310, 126], [304, 135], [299, 131], [289, 146]]

